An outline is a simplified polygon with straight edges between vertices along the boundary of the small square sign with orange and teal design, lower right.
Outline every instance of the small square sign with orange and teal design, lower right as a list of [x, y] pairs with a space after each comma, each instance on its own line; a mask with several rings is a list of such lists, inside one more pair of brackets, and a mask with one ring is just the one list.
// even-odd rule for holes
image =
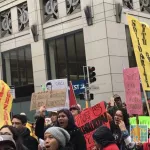
[[[140, 134], [138, 135], [138, 131]], [[147, 125], [131, 125], [130, 136], [133, 142], [145, 143], [148, 141], [148, 127]]]

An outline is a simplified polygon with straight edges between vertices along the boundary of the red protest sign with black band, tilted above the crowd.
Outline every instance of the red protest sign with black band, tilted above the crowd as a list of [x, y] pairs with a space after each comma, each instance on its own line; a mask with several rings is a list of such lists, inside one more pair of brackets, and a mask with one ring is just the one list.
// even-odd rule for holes
[[76, 125], [84, 134], [87, 150], [92, 150], [94, 147], [92, 138], [94, 131], [102, 125], [109, 127], [104, 102], [83, 110], [76, 116], [75, 121]]

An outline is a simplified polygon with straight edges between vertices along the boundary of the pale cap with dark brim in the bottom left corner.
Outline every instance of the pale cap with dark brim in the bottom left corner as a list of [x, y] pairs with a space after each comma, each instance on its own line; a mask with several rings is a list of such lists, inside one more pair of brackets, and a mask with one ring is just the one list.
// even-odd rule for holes
[[11, 135], [0, 135], [0, 144], [10, 143], [13, 148], [16, 148], [16, 143]]

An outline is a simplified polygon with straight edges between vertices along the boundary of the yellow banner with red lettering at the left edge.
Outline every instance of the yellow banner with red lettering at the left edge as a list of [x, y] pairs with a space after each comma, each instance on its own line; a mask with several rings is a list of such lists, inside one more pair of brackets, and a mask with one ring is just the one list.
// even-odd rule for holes
[[0, 80], [0, 127], [11, 125], [10, 112], [13, 98], [9, 86]]

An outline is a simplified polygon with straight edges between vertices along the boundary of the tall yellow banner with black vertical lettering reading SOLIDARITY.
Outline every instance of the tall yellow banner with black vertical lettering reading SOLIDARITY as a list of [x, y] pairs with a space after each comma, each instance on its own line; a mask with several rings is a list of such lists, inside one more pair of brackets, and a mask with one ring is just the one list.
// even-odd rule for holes
[[150, 91], [150, 28], [133, 16], [127, 19], [143, 89]]

